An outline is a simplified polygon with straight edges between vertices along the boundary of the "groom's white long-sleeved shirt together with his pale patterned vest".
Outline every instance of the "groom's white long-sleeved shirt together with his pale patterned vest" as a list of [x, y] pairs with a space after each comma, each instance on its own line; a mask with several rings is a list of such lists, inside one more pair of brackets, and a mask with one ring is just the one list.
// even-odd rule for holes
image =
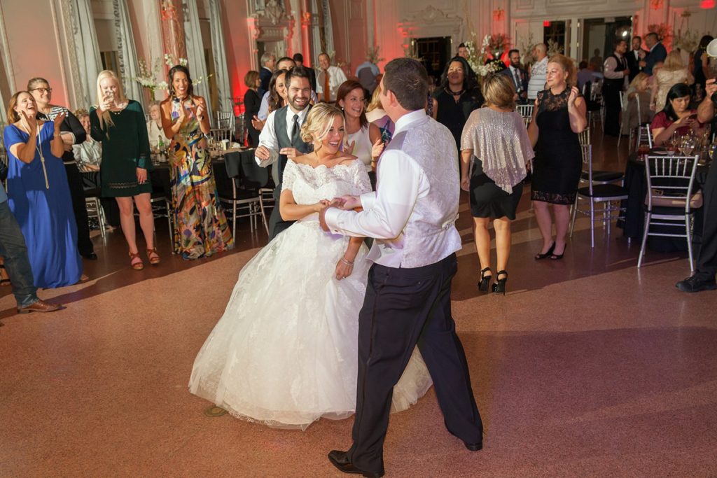
[[455, 140], [424, 110], [399, 118], [393, 138], [379, 161], [377, 191], [361, 195], [364, 211], [329, 208], [326, 224], [335, 234], [376, 238], [368, 256], [376, 264], [434, 264], [461, 248]]

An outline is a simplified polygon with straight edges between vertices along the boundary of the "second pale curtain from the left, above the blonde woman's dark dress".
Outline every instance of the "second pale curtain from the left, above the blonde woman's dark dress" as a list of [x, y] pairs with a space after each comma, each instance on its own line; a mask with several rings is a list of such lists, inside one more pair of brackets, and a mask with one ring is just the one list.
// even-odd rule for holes
[[138, 62], [127, 0], [112, 0], [112, 7], [115, 16], [115, 33], [117, 34], [117, 62], [120, 70], [118, 73], [121, 76], [122, 87], [128, 98], [137, 100], [146, 110], [142, 87], [133, 80], [138, 76]]

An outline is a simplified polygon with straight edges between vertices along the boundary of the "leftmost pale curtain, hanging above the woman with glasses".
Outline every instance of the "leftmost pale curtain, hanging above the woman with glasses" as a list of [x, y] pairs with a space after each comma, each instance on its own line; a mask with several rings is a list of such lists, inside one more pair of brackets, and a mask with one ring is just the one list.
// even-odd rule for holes
[[80, 72], [77, 80], [82, 87], [81, 91], [76, 92], [76, 98], [79, 102], [78, 106], [89, 107], [97, 102], [97, 76], [102, 70], [95, 18], [90, 0], [70, 1], [70, 12], [77, 67]]

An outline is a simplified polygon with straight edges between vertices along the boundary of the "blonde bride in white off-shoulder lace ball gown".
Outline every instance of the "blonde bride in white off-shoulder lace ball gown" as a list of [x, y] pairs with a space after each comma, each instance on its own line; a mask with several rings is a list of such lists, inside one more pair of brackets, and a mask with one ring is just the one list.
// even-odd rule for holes
[[[227, 309], [194, 360], [189, 391], [230, 414], [306, 429], [356, 408], [359, 310], [369, 262], [361, 238], [320, 229], [327, 198], [371, 191], [361, 161], [341, 152], [341, 110], [320, 103], [301, 128], [314, 152], [289, 160], [280, 212], [296, 220], [239, 272]], [[431, 386], [418, 350], [394, 387], [402, 411]]]

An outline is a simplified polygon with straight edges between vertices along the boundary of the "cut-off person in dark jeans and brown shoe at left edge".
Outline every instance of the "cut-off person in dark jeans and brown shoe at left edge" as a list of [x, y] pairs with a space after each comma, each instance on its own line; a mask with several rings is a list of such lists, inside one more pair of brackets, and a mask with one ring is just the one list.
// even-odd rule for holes
[[[0, 162], [0, 176], [6, 174], [6, 166]], [[27, 245], [15, 216], [7, 204], [5, 188], [0, 184], [0, 256], [12, 284], [12, 293], [17, 301], [17, 312], [52, 312], [62, 306], [50, 304], [37, 297], [32, 268], [27, 257]]]

